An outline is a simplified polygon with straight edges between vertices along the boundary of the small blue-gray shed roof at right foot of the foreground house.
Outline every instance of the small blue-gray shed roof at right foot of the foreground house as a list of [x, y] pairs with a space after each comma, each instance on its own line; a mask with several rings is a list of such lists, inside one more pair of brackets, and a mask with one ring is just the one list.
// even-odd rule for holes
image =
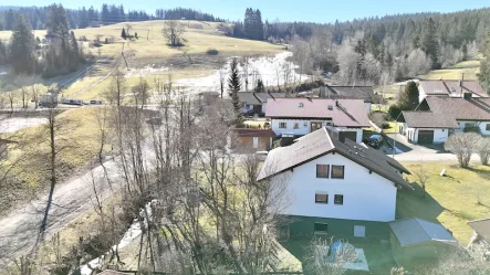
[[428, 222], [418, 218], [389, 222], [393, 233], [400, 246], [409, 246], [427, 242], [440, 242], [457, 246], [458, 242], [440, 223]]

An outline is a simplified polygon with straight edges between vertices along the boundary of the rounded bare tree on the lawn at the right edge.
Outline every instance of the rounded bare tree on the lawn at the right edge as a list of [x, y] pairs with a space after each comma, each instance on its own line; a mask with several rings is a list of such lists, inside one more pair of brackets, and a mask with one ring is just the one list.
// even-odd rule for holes
[[477, 149], [478, 138], [478, 134], [475, 133], [453, 134], [448, 138], [448, 141], [446, 141], [445, 148], [456, 154], [461, 168], [468, 168], [471, 154]]

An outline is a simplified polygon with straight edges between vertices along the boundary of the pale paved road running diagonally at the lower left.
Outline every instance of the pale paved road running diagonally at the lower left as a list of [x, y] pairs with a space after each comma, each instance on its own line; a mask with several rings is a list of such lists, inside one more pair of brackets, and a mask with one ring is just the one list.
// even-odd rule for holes
[[[121, 174], [114, 160], [105, 162], [104, 166], [107, 169], [108, 178], [113, 181]], [[94, 205], [92, 174], [97, 192], [103, 198], [107, 198], [112, 191], [119, 189], [117, 183], [108, 184], [103, 179], [104, 169], [102, 166], [59, 184], [54, 190], [53, 204], [48, 219], [46, 237], [59, 232]], [[43, 219], [46, 200], [48, 194], [0, 219], [0, 268], [32, 250]]]

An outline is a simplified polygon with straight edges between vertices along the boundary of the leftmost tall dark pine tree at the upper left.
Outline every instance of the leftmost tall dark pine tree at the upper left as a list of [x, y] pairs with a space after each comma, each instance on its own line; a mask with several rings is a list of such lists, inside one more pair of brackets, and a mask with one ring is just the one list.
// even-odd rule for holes
[[17, 74], [32, 74], [34, 72], [34, 34], [24, 17], [19, 15], [10, 36], [10, 61]]

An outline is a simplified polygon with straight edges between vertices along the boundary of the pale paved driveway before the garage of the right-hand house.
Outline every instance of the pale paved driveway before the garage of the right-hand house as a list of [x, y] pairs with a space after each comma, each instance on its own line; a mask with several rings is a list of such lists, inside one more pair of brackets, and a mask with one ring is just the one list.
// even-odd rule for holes
[[[388, 134], [388, 142], [403, 152], [396, 154], [395, 159], [398, 161], [457, 161], [456, 155], [444, 150], [441, 145], [414, 145], [408, 142], [407, 138], [400, 134]], [[385, 154], [389, 155], [390, 149], [386, 149]], [[479, 161], [477, 154], [471, 156], [471, 161]]]

